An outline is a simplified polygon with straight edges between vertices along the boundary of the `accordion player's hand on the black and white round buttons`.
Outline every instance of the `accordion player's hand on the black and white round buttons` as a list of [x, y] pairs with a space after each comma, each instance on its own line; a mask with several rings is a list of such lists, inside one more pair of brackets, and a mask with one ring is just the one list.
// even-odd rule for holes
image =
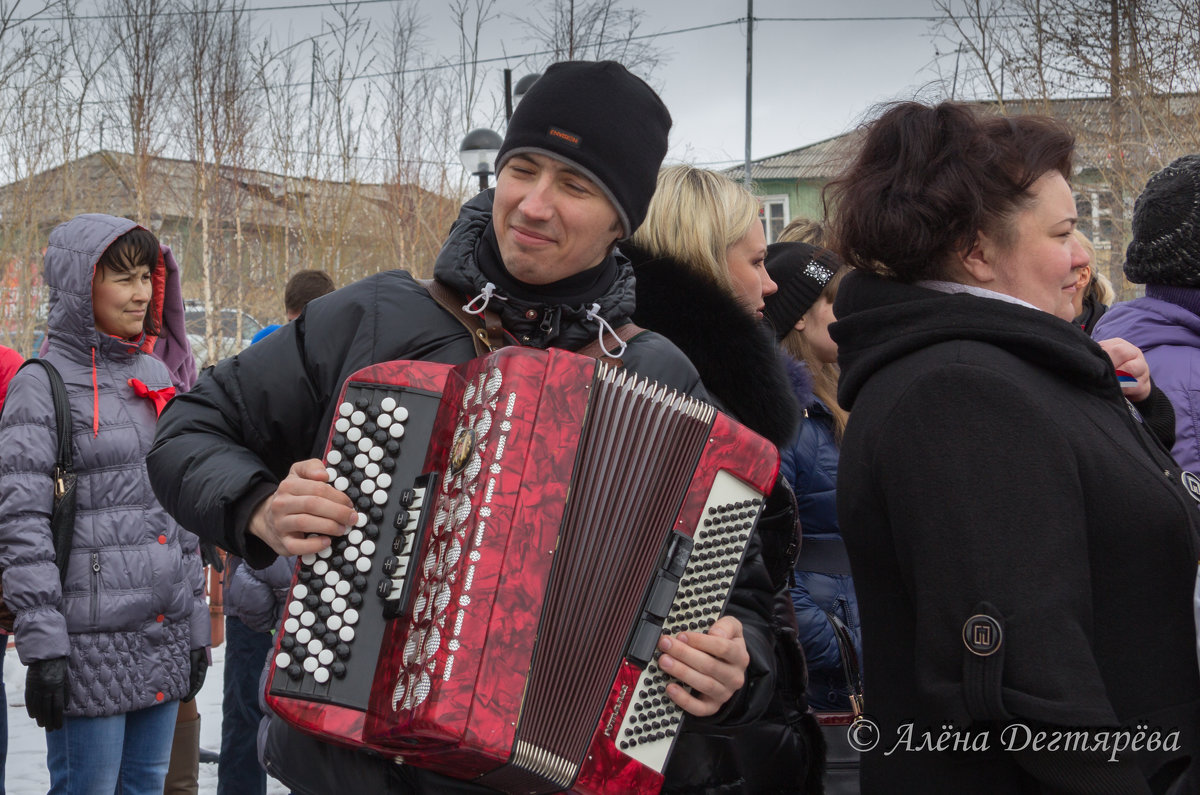
[[292, 465], [275, 494], [250, 518], [250, 532], [280, 555], [308, 555], [330, 545], [330, 536], [354, 527], [358, 512], [350, 498], [329, 483], [318, 459]]

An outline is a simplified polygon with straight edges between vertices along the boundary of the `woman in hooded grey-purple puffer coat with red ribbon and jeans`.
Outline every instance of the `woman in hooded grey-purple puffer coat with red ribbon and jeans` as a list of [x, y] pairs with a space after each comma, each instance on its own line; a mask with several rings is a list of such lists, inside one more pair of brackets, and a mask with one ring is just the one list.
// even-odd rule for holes
[[[26, 367], [0, 418], [0, 568], [47, 728], [52, 793], [162, 791], [179, 700], [203, 682], [209, 611], [197, 538], [158, 504], [145, 456], [173, 394], [149, 355], [164, 258], [132, 221], [83, 215], [50, 233], [46, 360], [71, 404], [77, 507], [60, 588], [49, 515], [56, 431], [49, 383]], [[95, 277], [94, 277], [95, 276]]]

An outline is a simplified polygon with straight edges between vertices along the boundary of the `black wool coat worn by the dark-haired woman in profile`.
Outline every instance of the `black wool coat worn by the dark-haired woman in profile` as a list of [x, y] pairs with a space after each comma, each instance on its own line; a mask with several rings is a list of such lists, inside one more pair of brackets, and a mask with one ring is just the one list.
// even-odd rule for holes
[[[834, 311], [881, 733], [863, 791], [1165, 791], [1200, 743], [1196, 502], [1108, 355], [1049, 313], [860, 273]], [[1088, 740], [1036, 753], [1014, 724]], [[1139, 727], [1176, 748], [1097, 749]]]

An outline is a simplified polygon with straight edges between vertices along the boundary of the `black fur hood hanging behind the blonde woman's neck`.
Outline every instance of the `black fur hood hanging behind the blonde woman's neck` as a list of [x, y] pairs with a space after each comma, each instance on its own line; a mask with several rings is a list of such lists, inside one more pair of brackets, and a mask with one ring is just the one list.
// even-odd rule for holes
[[620, 250], [637, 277], [634, 322], [674, 342], [738, 422], [776, 447], [790, 442], [800, 410], [770, 329], [695, 268], [629, 241]]

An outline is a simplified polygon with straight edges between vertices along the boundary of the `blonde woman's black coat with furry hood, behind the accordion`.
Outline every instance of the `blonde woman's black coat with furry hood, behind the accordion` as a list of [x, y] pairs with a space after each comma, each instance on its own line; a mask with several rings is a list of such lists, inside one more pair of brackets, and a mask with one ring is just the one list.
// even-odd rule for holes
[[[776, 446], [791, 441], [800, 410], [774, 336], [696, 269], [653, 258], [629, 243], [622, 244], [622, 253], [634, 263], [637, 277], [634, 322], [679, 346], [716, 405]], [[821, 791], [823, 743], [805, 715], [804, 651], [787, 587], [799, 542], [796, 503], [782, 480], [758, 521], [757, 536], [767, 564], [763, 574], [774, 587], [762, 603], [776, 644], [770, 707], [761, 721], [737, 731], [691, 721], [695, 730], [679, 739], [664, 791]], [[696, 765], [697, 759], [702, 764]]]

